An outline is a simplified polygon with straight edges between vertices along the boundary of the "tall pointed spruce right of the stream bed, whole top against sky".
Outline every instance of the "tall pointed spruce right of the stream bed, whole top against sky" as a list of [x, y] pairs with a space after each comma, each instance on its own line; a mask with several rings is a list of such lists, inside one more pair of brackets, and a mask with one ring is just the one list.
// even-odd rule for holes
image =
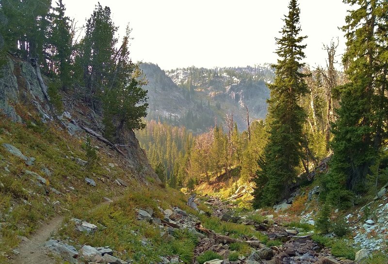
[[300, 97], [308, 92], [304, 81], [306, 76], [301, 72], [305, 57], [301, 42], [306, 36], [300, 36], [297, 0], [291, 0], [289, 14], [283, 21], [285, 25], [276, 38], [280, 57], [277, 64], [275, 82], [269, 85], [271, 99], [268, 100], [270, 123], [268, 144], [259, 161], [260, 169], [255, 178], [254, 206], [256, 208], [272, 205], [289, 192], [289, 186], [297, 177], [296, 167], [303, 156], [301, 142], [305, 111], [298, 104]]

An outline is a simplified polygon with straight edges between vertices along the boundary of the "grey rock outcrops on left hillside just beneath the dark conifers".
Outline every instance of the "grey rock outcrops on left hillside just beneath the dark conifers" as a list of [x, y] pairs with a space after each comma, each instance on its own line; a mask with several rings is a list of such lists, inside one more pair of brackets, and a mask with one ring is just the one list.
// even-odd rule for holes
[[[43, 77], [46, 84], [49, 79]], [[62, 95], [64, 112], [55, 113], [45, 99], [36, 77], [36, 72], [29, 62], [10, 57], [1, 72], [0, 78], [0, 114], [2, 113], [13, 122], [23, 123], [23, 116], [31, 115], [28, 111], [36, 111], [41, 122], [55, 121], [60, 129], [66, 129], [70, 134], [80, 137], [83, 127], [89, 128], [102, 135], [102, 117], [72, 95]], [[23, 107], [19, 107], [19, 106]], [[55, 114], [54, 114], [55, 113]], [[55, 115], [55, 116], [54, 116]], [[128, 167], [139, 179], [159, 178], [148, 163], [146, 153], [140, 148], [133, 131], [123, 130], [119, 148], [125, 155]]]

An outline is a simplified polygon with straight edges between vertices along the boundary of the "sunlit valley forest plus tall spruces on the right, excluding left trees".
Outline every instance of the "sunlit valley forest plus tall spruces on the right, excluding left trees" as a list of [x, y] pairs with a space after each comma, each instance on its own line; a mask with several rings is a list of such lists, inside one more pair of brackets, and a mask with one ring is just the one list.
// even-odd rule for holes
[[[173, 157], [179, 157], [175, 162], [163, 155], [155, 159], [154, 149], [158, 147], [145, 147], [152, 149], [148, 153], [154, 165], [162, 171], [167, 167], [163, 177], [172, 179], [174, 187], [184, 186], [192, 184], [189, 179], [193, 177], [195, 182], [210, 181], [241, 166], [241, 179], [256, 182], [254, 205], [261, 207], [282, 200], [298, 177], [309, 174], [324, 157], [331, 156], [329, 173], [319, 177], [323, 201], [349, 207], [357, 195], [376, 190], [388, 170], [384, 151], [388, 3], [361, 1], [358, 6], [356, 1], [346, 2], [355, 10], [349, 12], [342, 28], [347, 38], [344, 72], [341, 66], [336, 68], [338, 43], [333, 40], [323, 45], [327, 51], [325, 66], [311, 68], [301, 62], [306, 36], [299, 34], [300, 11], [296, 0], [291, 0], [281, 37], [276, 39], [279, 60], [274, 65], [275, 82], [269, 85], [271, 99], [265, 122], [254, 122], [248, 131], [240, 133], [228, 114], [223, 125], [194, 138], [190, 135], [185, 148], [174, 148], [178, 152]], [[192, 72], [190, 80], [197, 82], [217, 74], [216, 69]], [[154, 135], [153, 142], [162, 146], [160, 137]]]

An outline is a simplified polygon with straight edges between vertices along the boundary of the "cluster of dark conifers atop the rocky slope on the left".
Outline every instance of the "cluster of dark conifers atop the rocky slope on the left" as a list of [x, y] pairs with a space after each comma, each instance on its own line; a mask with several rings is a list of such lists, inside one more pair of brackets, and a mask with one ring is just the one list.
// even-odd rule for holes
[[112, 141], [124, 127], [144, 128], [146, 80], [129, 58], [130, 28], [119, 41], [109, 7], [98, 4], [82, 28], [65, 10], [62, 0], [1, 0], [2, 63], [8, 55], [37, 63], [54, 77], [47, 91], [51, 107], [61, 109], [59, 91], [72, 94], [103, 114]]

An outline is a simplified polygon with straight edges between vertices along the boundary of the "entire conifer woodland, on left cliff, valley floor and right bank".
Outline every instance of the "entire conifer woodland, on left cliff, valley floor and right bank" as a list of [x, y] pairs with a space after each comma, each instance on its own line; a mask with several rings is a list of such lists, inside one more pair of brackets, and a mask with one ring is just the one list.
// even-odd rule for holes
[[[273, 65], [275, 82], [268, 85], [268, 115], [265, 120], [249, 120], [247, 110], [244, 132], [232, 113], [214, 122], [212, 116], [189, 112], [181, 117], [187, 128], [171, 126], [176, 123], [172, 119], [148, 121], [146, 127], [142, 118], [147, 92], [142, 87], [147, 81], [129, 57], [130, 28], [119, 40], [109, 7], [100, 4], [80, 34], [74, 20], [65, 16], [62, 0], [54, 5], [50, 0], [0, 0], [1, 63], [7, 56], [38, 63], [52, 80], [48, 89], [52, 108], [61, 109], [61, 93], [72, 94], [103, 116], [104, 136], [113, 142], [124, 127], [139, 129], [151, 164], [172, 187], [193, 189], [195, 183], [228, 175], [237, 166], [242, 183], [256, 183], [254, 206], [269, 206], [285, 198], [298, 177], [331, 155], [329, 172], [319, 176], [322, 201], [344, 208], [377, 188], [388, 173], [388, 2], [345, 2], [354, 7], [342, 27], [346, 51], [340, 60], [337, 42], [328, 40], [323, 45], [327, 65], [312, 68], [302, 62], [307, 36], [300, 35], [297, 1], [290, 1], [276, 38], [279, 59]], [[342, 66], [336, 68], [337, 60]], [[239, 68], [230, 71], [229, 76], [263, 82]], [[187, 99], [197, 83], [219, 74], [218, 69], [190, 72], [190, 81], [180, 84]], [[197, 101], [197, 108], [204, 104], [210, 102]], [[204, 120], [205, 126], [211, 125], [208, 132], [195, 136], [188, 132]]]

